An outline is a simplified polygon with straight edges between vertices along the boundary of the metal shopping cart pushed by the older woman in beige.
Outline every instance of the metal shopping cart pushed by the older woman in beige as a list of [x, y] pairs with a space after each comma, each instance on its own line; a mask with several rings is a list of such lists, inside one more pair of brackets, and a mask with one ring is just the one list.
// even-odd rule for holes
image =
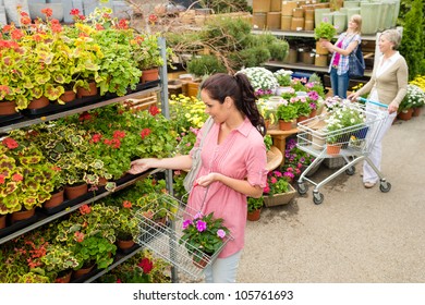
[[[335, 112], [325, 111], [325, 113], [320, 115], [298, 124], [298, 147], [315, 157], [315, 160], [299, 178], [298, 192], [300, 195], [305, 195], [307, 193], [308, 187], [305, 182], [315, 185], [315, 188], [313, 190], [313, 202], [316, 205], [324, 202], [324, 195], [319, 192], [321, 186], [342, 172], [353, 175], [355, 173], [354, 164], [363, 160], [367, 161], [379, 176], [379, 190], [382, 193], [387, 193], [391, 190], [391, 184], [387, 182], [381, 172], [368, 158], [379, 131], [388, 118], [388, 111], [366, 111], [366, 103], [372, 103], [381, 108], [388, 108], [388, 106], [364, 98], [360, 98], [360, 101], [364, 103], [344, 100], [343, 107], [361, 113], [365, 118], [362, 123], [328, 132], [326, 125]], [[332, 151], [332, 149], [339, 149], [339, 151]], [[316, 169], [325, 159], [340, 157], [344, 159], [344, 166], [325, 180], [315, 182], [306, 176], [311, 170]]]

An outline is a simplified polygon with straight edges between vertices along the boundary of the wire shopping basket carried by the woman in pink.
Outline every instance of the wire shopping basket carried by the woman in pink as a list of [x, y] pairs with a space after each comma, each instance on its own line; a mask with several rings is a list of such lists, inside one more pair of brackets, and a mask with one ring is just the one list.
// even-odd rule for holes
[[153, 208], [158, 208], [158, 202], [151, 202], [136, 213], [141, 230], [137, 243], [173, 265], [178, 271], [184, 271], [193, 279], [202, 278], [203, 270], [216, 260], [232, 236], [224, 236], [223, 244], [214, 255], [199, 255], [190, 244], [181, 241], [183, 221], [194, 219], [197, 211], [170, 195], [161, 195], [157, 200], [166, 207], [151, 212]]

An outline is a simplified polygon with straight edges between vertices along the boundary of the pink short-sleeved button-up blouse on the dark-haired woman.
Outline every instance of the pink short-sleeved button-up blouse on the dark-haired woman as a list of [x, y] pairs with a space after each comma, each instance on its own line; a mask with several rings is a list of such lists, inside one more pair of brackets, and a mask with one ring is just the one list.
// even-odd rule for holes
[[[215, 123], [204, 141], [198, 176], [218, 172], [234, 179], [246, 179], [251, 185], [265, 187], [267, 156], [259, 132], [245, 118], [244, 122], [221, 144], [217, 144], [219, 129], [220, 125]], [[197, 135], [195, 146], [198, 146], [202, 134], [203, 129]], [[224, 220], [223, 224], [230, 230], [233, 240], [228, 242], [219, 257], [231, 256], [243, 248], [247, 212], [246, 195], [216, 181], [209, 187], [194, 187], [189, 197], [189, 206], [204, 215], [214, 211], [215, 218]]]

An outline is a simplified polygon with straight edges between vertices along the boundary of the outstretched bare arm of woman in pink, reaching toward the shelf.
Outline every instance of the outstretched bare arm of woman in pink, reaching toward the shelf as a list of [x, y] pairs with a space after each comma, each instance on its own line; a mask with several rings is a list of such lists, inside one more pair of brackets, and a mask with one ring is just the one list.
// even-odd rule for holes
[[189, 155], [172, 158], [144, 158], [131, 162], [129, 173], [136, 174], [148, 169], [185, 170], [192, 167], [192, 157]]

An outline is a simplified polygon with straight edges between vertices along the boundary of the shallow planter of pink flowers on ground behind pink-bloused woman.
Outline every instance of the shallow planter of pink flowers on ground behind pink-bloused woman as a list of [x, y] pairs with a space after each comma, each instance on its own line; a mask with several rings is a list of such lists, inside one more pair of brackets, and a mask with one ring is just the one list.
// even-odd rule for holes
[[266, 207], [281, 206], [289, 204], [295, 196], [296, 191], [289, 183], [288, 178], [278, 171], [270, 171], [267, 174], [267, 185], [263, 190], [264, 205]]

